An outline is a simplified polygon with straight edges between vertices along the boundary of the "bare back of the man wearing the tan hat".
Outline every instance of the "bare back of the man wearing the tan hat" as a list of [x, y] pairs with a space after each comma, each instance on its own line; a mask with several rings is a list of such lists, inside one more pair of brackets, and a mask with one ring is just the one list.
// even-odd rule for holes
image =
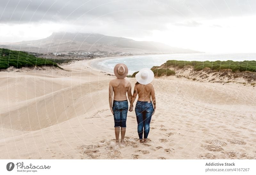
[[114, 100], [122, 101], [127, 100], [126, 92], [131, 87], [129, 80], [115, 78], [109, 82], [109, 86], [113, 87]]

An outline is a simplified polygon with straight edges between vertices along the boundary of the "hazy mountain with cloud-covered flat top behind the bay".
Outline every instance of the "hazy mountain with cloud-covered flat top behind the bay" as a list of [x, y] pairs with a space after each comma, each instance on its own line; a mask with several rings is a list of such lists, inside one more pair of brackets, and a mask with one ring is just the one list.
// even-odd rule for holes
[[195, 50], [171, 47], [153, 41], [135, 41], [128, 38], [97, 33], [52, 33], [40, 39], [15, 43], [0, 43], [0, 47], [38, 53], [128, 52], [128, 53], [200, 53]]

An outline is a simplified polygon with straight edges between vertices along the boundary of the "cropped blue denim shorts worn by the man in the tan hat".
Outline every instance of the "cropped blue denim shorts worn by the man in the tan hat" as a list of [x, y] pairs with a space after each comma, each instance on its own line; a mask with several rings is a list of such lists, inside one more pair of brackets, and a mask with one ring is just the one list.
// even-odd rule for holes
[[126, 118], [128, 112], [128, 101], [113, 101], [112, 106], [114, 112], [115, 128], [122, 127], [126, 128]]

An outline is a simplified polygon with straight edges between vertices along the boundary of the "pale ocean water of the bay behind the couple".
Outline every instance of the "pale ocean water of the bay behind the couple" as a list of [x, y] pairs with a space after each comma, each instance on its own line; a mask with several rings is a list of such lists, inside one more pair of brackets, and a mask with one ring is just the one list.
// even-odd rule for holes
[[244, 61], [256, 60], [256, 53], [236, 53], [236, 54], [166, 54], [166, 55], [136, 55], [127, 57], [113, 57], [105, 60], [94, 59], [91, 66], [102, 71], [113, 73], [117, 63], [124, 63], [129, 69], [129, 75], [139, 71], [142, 68], [152, 68], [160, 66], [167, 60], [184, 60], [184, 61]]

